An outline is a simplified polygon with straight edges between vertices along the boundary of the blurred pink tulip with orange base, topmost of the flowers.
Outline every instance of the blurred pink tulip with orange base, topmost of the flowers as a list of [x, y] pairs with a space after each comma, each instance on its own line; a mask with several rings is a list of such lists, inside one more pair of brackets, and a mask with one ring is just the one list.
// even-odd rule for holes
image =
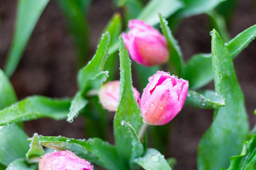
[[169, 51], [164, 36], [142, 20], [130, 20], [128, 33], [122, 33], [123, 42], [131, 59], [144, 66], [162, 65], [168, 61]]

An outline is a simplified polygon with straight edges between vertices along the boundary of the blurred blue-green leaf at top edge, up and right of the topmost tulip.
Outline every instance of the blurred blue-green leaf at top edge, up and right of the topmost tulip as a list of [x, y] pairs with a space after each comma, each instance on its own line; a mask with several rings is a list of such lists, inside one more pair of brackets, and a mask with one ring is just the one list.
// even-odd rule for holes
[[183, 0], [184, 8], [178, 14], [182, 18], [199, 15], [213, 10], [217, 5], [226, 0]]

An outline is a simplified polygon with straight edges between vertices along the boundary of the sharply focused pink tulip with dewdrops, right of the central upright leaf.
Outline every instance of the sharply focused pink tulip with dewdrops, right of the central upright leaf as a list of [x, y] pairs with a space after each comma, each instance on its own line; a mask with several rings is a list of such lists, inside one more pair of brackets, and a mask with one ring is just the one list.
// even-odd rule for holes
[[164, 71], [157, 71], [148, 81], [141, 97], [143, 120], [150, 125], [167, 124], [183, 108], [188, 81]]

